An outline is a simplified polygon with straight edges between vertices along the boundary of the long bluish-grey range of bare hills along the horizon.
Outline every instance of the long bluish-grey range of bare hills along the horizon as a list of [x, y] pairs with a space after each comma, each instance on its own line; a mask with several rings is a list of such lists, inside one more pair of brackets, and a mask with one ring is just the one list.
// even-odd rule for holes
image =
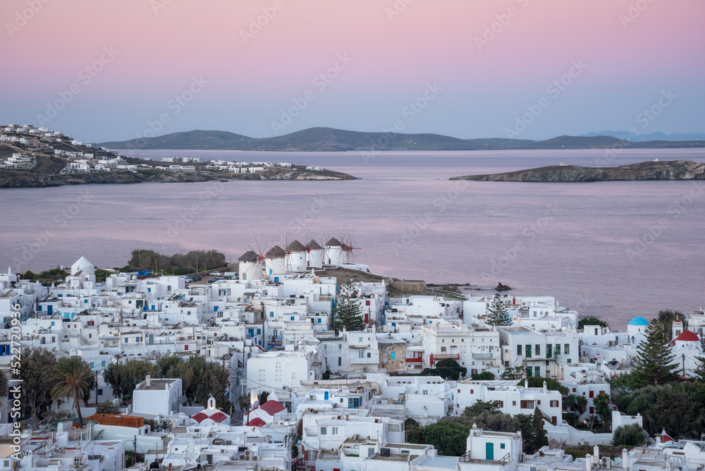
[[500, 149], [604, 149], [628, 147], [660, 149], [705, 147], [705, 140], [629, 142], [610, 136], [559, 136], [527, 139], [458, 139], [439, 134], [362, 133], [333, 128], [309, 128], [283, 136], [257, 139], [216, 130], [193, 130], [158, 137], [102, 142], [108, 149], [192, 149], [250, 151], [375, 151], [375, 150], [500, 150]]

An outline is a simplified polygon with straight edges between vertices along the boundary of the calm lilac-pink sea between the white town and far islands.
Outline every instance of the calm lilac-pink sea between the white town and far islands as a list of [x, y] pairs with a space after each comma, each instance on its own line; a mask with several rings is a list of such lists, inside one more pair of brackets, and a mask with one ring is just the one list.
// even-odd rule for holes
[[704, 304], [705, 182], [506, 183], [451, 176], [568, 162], [705, 161], [701, 149], [505, 152], [140, 151], [320, 165], [355, 181], [140, 183], [0, 190], [0, 266], [120, 267], [135, 248], [221, 250], [235, 261], [353, 233], [357, 261], [400, 279], [498, 281], [624, 326]]

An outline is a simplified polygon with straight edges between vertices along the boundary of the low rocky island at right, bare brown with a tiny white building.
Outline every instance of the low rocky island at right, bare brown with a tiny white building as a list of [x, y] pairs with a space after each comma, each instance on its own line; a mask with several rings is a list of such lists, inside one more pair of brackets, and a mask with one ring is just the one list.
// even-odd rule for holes
[[646, 161], [618, 167], [554, 165], [487, 175], [467, 175], [450, 180], [591, 182], [630, 180], [705, 180], [705, 164], [692, 160]]

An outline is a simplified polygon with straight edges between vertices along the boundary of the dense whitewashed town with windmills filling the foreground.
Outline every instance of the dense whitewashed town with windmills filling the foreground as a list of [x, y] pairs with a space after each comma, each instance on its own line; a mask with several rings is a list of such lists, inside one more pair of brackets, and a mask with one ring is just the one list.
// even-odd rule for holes
[[[601, 455], [597, 445], [611, 444], [615, 429], [643, 425], [641, 416], [612, 405], [611, 429], [578, 427], [595, 417], [596, 398], [611, 396], [607, 380], [632, 371], [649, 326], [643, 317], [624, 332], [598, 324], [579, 329], [579, 313], [550, 295], [391, 291], [390, 281], [353, 259], [354, 249], [336, 238], [295, 240], [247, 251], [237, 272], [213, 271], [208, 280], [116, 271], [97, 281], [96, 267], [81, 257], [65, 279], [42, 286], [10, 267], [0, 275], [0, 368], [10, 384], [0, 404], [0, 471], [703, 469], [705, 442], [675, 441], [668, 430], [644, 446]], [[343, 305], [357, 306], [362, 329], [336, 324]], [[494, 325], [493, 311], [508, 325]], [[674, 321], [667, 345], [684, 378], [697, 374], [697, 357], [704, 355], [705, 312], [687, 314], [687, 326]], [[88, 407], [79, 405], [82, 423], [36, 427], [25, 416], [26, 428], [14, 432], [13, 386], [25, 387], [11, 375], [18, 345], [23, 354], [47, 349], [90, 365], [97, 384]], [[209, 391], [221, 403], [215, 397], [190, 403], [185, 379], [152, 374], [139, 379], [125, 402], [104, 377], [116, 364], [196, 356], [222, 368], [227, 391]], [[457, 381], [433, 374], [448, 360], [465, 369]], [[418, 375], [427, 369], [431, 374]], [[546, 380], [529, 384], [533, 377], [555, 380], [568, 394]], [[564, 418], [570, 397], [584, 398], [575, 427]], [[119, 413], [97, 413], [105, 401]], [[521, 432], [477, 425], [461, 456], [407, 441], [410, 419], [423, 427], [458, 417], [478, 401], [512, 416], [539, 417], [548, 445], [525, 453]], [[51, 408], [75, 406], [65, 400]], [[595, 447], [584, 458], [564, 451], [578, 444]], [[126, 451], [144, 455], [144, 463], [129, 463]]]

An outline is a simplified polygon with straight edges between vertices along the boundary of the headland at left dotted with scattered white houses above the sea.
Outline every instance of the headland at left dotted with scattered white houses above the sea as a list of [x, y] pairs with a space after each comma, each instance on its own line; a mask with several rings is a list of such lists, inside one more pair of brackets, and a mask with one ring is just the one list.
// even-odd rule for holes
[[[5, 171], [6, 174], [2, 174]], [[121, 180], [110, 180], [121, 173]], [[4, 184], [3, 176], [14, 178]], [[77, 177], [64, 181], [69, 177]], [[319, 166], [294, 166], [287, 162], [201, 161], [200, 157], [125, 157], [118, 152], [82, 142], [71, 135], [31, 124], [0, 126], [0, 186], [15, 186], [22, 177], [42, 178], [44, 184], [137, 183], [152, 181], [202, 181], [215, 178], [344, 180], [345, 173]], [[64, 178], [62, 180], [61, 178]]]

